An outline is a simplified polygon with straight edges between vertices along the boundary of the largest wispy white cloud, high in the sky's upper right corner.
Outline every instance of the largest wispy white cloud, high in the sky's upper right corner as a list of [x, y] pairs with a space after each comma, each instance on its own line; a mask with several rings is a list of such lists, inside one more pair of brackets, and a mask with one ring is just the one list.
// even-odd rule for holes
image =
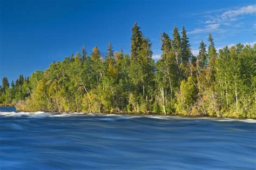
[[238, 21], [245, 15], [253, 15], [256, 13], [256, 5], [243, 6], [239, 9], [222, 9], [215, 12], [208, 12], [205, 15], [206, 21], [203, 28], [196, 28], [188, 33], [200, 33], [200, 32], [213, 32], [213, 31], [224, 31], [222, 26], [234, 26], [239, 27], [235, 21]]

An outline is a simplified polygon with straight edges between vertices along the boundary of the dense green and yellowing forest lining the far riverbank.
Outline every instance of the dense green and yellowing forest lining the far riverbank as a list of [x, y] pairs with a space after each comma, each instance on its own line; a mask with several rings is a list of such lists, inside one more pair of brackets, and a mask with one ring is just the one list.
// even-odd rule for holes
[[130, 55], [105, 56], [94, 47], [53, 62], [45, 71], [3, 78], [0, 104], [45, 112], [131, 112], [256, 118], [256, 44], [215, 49], [201, 41], [191, 52], [183, 27], [161, 34], [161, 58], [152, 59], [150, 39], [135, 23]]

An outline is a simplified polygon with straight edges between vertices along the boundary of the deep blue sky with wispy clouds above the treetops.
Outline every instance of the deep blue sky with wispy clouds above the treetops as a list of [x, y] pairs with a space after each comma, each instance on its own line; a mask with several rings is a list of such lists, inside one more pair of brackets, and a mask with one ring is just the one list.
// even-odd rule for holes
[[[256, 42], [255, 1], [66, 1], [0, 0], [0, 78], [15, 80], [45, 70], [52, 60], [62, 60], [86, 46], [88, 53], [107, 43], [114, 50], [130, 51], [134, 22], [152, 43], [158, 59], [161, 32], [172, 35], [184, 25], [191, 49], [212, 33], [215, 46]], [[2, 82], [0, 83], [2, 84]]]

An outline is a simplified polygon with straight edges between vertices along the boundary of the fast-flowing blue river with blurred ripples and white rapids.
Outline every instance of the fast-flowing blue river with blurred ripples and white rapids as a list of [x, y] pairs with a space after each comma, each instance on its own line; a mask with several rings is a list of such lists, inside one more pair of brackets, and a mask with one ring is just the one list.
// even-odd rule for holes
[[255, 169], [256, 121], [0, 107], [0, 169]]

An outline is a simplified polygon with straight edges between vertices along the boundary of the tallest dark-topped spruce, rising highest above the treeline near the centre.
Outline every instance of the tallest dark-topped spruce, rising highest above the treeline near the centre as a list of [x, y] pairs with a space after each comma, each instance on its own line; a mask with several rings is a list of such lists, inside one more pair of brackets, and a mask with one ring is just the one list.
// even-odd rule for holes
[[133, 87], [130, 105], [134, 111], [146, 112], [149, 109], [149, 99], [152, 97], [154, 62], [150, 40], [143, 37], [136, 23], [132, 28], [130, 63], [129, 77]]

